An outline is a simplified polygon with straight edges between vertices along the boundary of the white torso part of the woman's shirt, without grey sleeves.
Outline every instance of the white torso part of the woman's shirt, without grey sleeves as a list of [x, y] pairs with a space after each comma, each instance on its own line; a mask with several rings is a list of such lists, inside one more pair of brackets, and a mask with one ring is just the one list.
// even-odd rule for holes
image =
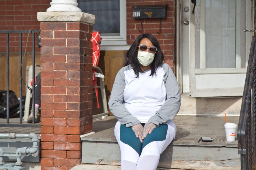
[[150, 74], [149, 69], [139, 73], [139, 77], [136, 78], [132, 69], [124, 71], [126, 84], [123, 94], [124, 105], [141, 123], [148, 122], [166, 99], [163, 68], [157, 68], [157, 76]]

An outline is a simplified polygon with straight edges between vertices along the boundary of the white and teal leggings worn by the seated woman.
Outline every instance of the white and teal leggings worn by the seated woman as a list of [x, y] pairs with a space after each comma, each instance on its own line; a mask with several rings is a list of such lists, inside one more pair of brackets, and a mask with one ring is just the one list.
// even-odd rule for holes
[[121, 170], [156, 170], [160, 154], [175, 137], [176, 126], [173, 121], [160, 125], [146, 136], [143, 143], [131, 127], [121, 125], [119, 121], [114, 133], [121, 150]]

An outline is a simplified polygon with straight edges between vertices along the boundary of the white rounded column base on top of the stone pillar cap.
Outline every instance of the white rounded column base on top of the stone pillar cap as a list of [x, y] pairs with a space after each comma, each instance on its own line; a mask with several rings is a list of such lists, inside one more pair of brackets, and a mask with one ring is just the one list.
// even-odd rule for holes
[[46, 12], [82, 12], [77, 7], [77, 0], [52, 0]]

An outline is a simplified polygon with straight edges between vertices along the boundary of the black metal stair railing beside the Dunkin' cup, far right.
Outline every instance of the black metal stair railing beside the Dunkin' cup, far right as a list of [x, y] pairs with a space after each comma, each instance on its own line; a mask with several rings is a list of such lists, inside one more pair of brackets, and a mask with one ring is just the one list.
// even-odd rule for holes
[[237, 129], [241, 170], [256, 169], [256, 36], [252, 37], [243, 100]]

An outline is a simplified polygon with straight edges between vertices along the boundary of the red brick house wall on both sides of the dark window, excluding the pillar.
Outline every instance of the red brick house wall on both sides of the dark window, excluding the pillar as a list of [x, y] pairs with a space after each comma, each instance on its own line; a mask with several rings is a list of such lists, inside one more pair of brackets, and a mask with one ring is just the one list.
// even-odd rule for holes
[[[4, 0], [0, 1], [0, 30], [39, 30], [37, 12], [45, 12], [50, 7], [51, 0]], [[131, 44], [142, 33], [151, 33], [158, 39], [165, 54], [166, 62], [172, 67], [175, 56], [175, 0], [127, 0], [127, 43]], [[168, 4], [167, 18], [162, 19], [162, 29], [159, 32], [160, 19], [143, 19], [143, 31], [140, 33], [141, 23], [139, 19], [133, 19], [134, 5]], [[37, 38], [37, 37], [36, 37]], [[0, 51], [6, 51], [5, 35], [0, 35]], [[26, 40], [23, 35], [22, 40]], [[31, 40], [27, 51], [31, 51]], [[10, 37], [10, 51], [19, 51], [18, 35]], [[36, 42], [37, 43], [37, 42]], [[23, 42], [25, 46], [25, 42]], [[25, 48], [23, 49], [23, 51]], [[37, 47], [36, 51], [40, 51]]]

